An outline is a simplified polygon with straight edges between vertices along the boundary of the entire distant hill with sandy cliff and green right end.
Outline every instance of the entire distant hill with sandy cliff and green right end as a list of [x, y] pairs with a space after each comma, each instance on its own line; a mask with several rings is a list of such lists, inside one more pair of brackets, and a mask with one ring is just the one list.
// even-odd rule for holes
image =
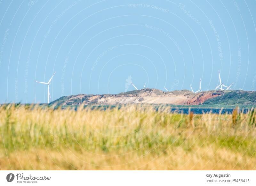
[[254, 105], [256, 92], [252, 91], [204, 91], [189, 90], [164, 92], [158, 89], [141, 89], [119, 94], [78, 94], [63, 96], [50, 104], [60, 105], [120, 105], [120, 104], [171, 104], [171, 105]]

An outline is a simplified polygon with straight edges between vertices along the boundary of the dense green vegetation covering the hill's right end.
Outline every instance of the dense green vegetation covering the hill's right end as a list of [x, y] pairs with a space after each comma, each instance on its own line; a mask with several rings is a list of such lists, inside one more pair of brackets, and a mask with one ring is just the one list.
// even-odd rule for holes
[[255, 105], [256, 92], [246, 92], [246, 91], [231, 91], [227, 92], [221, 96], [208, 99], [204, 101], [206, 104], [220, 104], [220, 105]]

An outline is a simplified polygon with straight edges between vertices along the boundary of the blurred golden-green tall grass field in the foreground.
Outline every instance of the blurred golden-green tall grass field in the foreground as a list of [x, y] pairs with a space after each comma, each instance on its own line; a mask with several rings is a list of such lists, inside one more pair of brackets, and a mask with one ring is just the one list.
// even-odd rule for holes
[[255, 170], [256, 109], [0, 107], [1, 170]]

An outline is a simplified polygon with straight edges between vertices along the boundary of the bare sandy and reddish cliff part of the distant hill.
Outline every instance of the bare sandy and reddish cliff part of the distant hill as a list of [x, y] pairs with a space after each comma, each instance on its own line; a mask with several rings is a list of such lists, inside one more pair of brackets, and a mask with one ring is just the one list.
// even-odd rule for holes
[[117, 104], [172, 104], [172, 105], [199, 105], [205, 100], [222, 95], [223, 91], [206, 91], [192, 93], [188, 90], [163, 92], [157, 89], [141, 89], [119, 94], [88, 95], [79, 94], [64, 96], [55, 100], [53, 104], [61, 105], [117, 105]]

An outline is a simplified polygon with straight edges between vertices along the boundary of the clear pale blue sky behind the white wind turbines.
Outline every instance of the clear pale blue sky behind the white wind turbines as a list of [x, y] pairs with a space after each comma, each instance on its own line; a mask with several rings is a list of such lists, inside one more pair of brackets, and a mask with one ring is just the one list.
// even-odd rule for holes
[[0, 103], [71, 94], [256, 90], [256, 1], [0, 0]]

